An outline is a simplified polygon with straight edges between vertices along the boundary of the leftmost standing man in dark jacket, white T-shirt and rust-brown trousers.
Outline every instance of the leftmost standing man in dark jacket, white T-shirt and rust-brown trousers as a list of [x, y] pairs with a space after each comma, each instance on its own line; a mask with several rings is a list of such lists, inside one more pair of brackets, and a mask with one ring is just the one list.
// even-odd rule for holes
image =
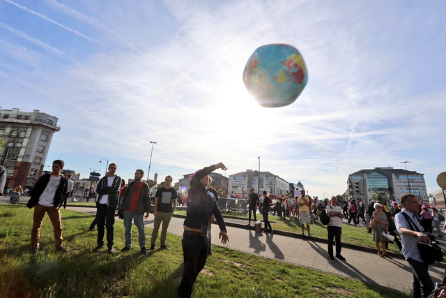
[[67, 193], [68, 181], [62, 176], [63, 161], [53, 161], [51, 174], [40, 176], [31, 191], [31, 198], [26, 204], [29, 209], [34, 207], [33, 229], [31, 230], [31, 253], [39, 252], [40, 227], [42, 227], [45, 212], [53, 224], [54, 239], [58, 251], [67, 251], [63, 246], [62, 218], [60, 207]]

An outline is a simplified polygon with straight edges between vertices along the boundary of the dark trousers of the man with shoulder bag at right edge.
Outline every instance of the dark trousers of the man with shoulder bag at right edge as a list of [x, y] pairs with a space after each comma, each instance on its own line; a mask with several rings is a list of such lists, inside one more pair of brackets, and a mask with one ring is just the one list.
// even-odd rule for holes
[[433, 291], [433, 282], [431, 276], [429, 276], [429, 266], [413, 259], [407, 259], [407, 261], [413, 273], [411, 297], [429, 297]]

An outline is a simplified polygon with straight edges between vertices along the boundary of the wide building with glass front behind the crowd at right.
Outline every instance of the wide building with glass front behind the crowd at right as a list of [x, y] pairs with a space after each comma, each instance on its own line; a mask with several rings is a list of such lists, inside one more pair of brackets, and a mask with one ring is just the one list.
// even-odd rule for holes
[[375, 167], [348, 175], [346, 198], [348, 200], [370, 201], [389, 200], [399, 203], [403, 193], [413, 193], [420, 200], [427, 201], [424, 174], [393, 167]]

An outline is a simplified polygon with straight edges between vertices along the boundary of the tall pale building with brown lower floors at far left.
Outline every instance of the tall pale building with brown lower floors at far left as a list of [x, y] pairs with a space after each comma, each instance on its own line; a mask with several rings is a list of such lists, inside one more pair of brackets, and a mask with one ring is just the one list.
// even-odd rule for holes
[[6, 168], [7, 185], [32, 187], [42, 174], [53, 134], [60, 131], [58, 118], [33, 110], [1, 110], [1, 163]]

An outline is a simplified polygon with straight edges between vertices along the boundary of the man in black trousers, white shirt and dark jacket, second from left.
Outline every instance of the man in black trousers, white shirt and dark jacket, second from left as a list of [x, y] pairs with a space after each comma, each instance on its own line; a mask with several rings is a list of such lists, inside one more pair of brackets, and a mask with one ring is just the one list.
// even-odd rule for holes
[[[121, 177], [117, 176], [116, 163], [110, 163], [109, 172], [99, 180], [96, 186], [98, 200], [96, 200], [96, 218], [98, 225], [98, 246], [93, 248], [93, 253], [104, 246], [104, 234], [107, 228], [107, 253], [113, 253], [114, 244], [114, 211], [118, 206], [119, 187]], [[94, 221], [93, 221], [94, 223]], [[93, 225], [92, 223], [92, 225]], [[94, 225], [93, 225], [94, 228]]]

